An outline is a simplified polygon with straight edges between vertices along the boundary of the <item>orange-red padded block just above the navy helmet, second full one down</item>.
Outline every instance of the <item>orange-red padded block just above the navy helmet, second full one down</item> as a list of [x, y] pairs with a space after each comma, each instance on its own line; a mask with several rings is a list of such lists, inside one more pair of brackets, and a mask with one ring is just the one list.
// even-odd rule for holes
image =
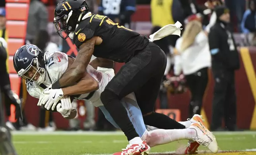
[[8, 27], [9, 38], [25, 38], [27, 22], [25, 22], [25, 21], [7, 21], [6, 27]]

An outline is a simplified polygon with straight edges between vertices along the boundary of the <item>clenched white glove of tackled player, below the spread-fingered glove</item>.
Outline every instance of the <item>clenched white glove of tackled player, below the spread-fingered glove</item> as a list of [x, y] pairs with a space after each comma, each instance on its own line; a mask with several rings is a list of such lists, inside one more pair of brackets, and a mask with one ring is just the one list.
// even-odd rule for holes
[[65, 97], [60, 99], [61, 103], [57, 105], [57, 111], [61, 113], [61, 115], [66, 118], [70, 116], [70, 112], [72, 110], [72, 105], [70, 101], [70, 97]]

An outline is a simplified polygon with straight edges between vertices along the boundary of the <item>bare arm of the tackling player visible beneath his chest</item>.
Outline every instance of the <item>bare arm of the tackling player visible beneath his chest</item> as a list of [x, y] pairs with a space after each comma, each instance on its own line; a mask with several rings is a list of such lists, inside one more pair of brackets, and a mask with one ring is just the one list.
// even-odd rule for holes
[[97, 70], [98, 66], [102, 68], [114, 68], [114, 61], [104, 58], [95, 58], [89, 64], [93, 66], [95, 70]]

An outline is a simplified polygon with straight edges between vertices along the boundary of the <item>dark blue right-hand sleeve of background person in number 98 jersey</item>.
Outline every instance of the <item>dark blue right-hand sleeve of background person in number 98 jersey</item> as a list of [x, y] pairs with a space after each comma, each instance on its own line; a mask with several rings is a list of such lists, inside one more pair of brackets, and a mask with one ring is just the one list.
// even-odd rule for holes
[[119, 15], [120, 20], [128, 19], [136, 11], [136, 0], [122, 0], [124, 3], [125, 11]]

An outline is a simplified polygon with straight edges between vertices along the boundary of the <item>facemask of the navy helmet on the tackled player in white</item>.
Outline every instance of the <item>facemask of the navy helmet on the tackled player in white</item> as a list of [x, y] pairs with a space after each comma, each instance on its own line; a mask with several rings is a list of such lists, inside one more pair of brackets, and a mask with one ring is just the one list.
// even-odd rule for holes
[[[34, 72], [32, 77], [29, 76], [29, 72]], [[45, 81], [45, 68], [40, 67], [38, 59], [34, 58], [25, 70], [19, 70], [18, 76], [25, 79], [26, 84], [36, 88]], [[35, 79], [36, 77], [38, 78]]]

